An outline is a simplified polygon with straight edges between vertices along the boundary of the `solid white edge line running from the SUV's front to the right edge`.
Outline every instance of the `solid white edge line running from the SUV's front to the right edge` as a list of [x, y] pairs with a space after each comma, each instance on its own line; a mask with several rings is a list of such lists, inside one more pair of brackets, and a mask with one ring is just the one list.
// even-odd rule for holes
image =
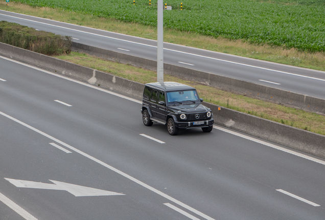
[[250, 137], [250, 136], [247, 136], [247, 135], [244, 135], [244, 134], [241, 134], [241, 133], [237, 133], [235, 131], [232, 131], [232, 130], [228, 130], [226, 128], [223, 128], [223, 127], [219, 127], [217, 125], [214, 125], [213, 126], [214, 128], [218, 129], [218, 130], [222, 130], [224, 132], [227, 132], [227, 133], [230, 133], [230, 134], [234, 134], [236, 136], [240, 136], [240, 137], [243, 137], [244, 139], [247, 139], [247, 140], [250, 140], [250, 141], [253, 141], [253, 142], [257, 142], [259, 144], [262, 144], [262, 145], [266, 145], [268, 147], [271, 147], [271, 148], [275, 148], [277, 150], [281, 150], [281, 151], [284, 151], [284, 152], [287, 152], [287, 153], [290, 153], [290, 154], [293, 154], [293, 155], [296, 155], [298, 157], [303, 157], [305, 159], [308, 159], [308, 160], [311, 160], [311, 161], [314, 161], [314, 162], [318, 162], [320, 164], [323, 164], [325, 165], [325, 161], [323, 160], [320, 160], [320, 159], [316, 159], [314, 157], [311, 157], [311, 156], [307, 156], [305, 154], [301, 154], [301, 153], [298, 153], [298, 152], [295, 152], [295, 151], [292, 151], [292, 150], [289, 150], [289, 149], [286, 149], [286, 148], [283, 148], [283, 147], [279, 147], [279, 146], [276, 146], [276, 145], [273, 145], [273, 144], [270, 144], [270, 143], [267, 143], [265, 141], [261, 141], [261, 140], [258, 140], [258, 139], [255, 139], [253, 137]]

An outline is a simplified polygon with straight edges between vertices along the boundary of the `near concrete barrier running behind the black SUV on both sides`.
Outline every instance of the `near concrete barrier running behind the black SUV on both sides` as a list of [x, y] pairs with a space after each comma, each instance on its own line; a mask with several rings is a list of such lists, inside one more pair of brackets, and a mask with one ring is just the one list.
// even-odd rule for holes
[[[142, 99], [144, 84], [138, 82], [3, 43], [0, 43], [0, 54], [45, 70], [71, 76], [96, 86], [99, 85], [109, 90]], [[324, 135], [224, 107], [222, 107], [221, 111], [218, 111], [218, 105], [207, 102], [203, 104], [212, 109], [216, 124], [325, 158]]]

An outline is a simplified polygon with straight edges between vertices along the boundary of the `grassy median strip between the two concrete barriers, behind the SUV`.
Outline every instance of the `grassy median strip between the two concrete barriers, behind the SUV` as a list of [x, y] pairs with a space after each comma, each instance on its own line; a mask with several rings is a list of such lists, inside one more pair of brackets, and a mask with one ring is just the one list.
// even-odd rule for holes
[[[56, 56], [56, 58], [141, 82], [142, 84], [157, 80], [157, 74], [154, 71], [107, 61], [86, 53], [71, 52], [67, 56]], [[164, 80], [176, 81], [195, 87], [199, 96], [206, 102], [325, 135], [325, 116], [225, 92], [167, 74], [164, 75]]]

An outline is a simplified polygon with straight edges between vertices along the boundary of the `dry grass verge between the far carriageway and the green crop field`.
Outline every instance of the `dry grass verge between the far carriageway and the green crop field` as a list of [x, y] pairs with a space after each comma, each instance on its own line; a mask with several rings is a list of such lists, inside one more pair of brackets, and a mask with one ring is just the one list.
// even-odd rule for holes
[[[12, 12], [33, 15], [48, 19], [54, 19], [67, 23], [89, 26], [96, 29], [117, 32], [148, 39], [157, 38], [157, 29], [137, 23], [122, 22], [116, 19], [101, 18], [81, 13], [63, 11], [62, 9], [39, 8], [10, 2], [7, 8], [6, 2], [0, 3], [0, 9]], [[250, 44], [242, 40], [227, 40], [213, 38], [196, 33], [164, 30], [164, 41], [185, 46], [192, 46], [217, 52], [234, 54], [237, 56], [288, 64], [325, 71], [325, 53], [308, 53], [297, 49], [284, 49], [278, 46]]]

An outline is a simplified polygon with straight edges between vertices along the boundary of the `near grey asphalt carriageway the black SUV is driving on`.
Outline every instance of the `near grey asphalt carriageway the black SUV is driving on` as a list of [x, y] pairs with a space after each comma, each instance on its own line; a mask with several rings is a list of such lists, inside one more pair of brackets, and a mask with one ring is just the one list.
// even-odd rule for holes
[[[192, 219], [323, 219], [323, 160], [297, 157], [220, 129], [171, 137], [164, 126], [143, 125], [136, 100], [8, 60], [0, 59], [0, 66], [0, 78], [6, 80], [0, 81], [0, 112], [44, 132], [0, 115], [0, 193], [38, 219], [189, 219], [168, 204]], [[4, 178], [56, 180], [125, 195], [74, 197], [66, 191], [17, 188]], [[17, 219], [14, 211], [0, 208], [8, 219]]]

